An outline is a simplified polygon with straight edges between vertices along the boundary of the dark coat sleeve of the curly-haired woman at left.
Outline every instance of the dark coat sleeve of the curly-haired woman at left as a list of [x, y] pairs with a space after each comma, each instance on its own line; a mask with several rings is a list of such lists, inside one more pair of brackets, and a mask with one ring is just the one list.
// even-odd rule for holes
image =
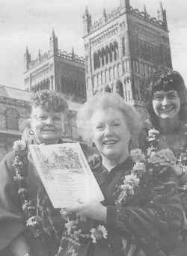
[[15, 183], [13, 152], [0, 163], [0, 252], [25, 230]]

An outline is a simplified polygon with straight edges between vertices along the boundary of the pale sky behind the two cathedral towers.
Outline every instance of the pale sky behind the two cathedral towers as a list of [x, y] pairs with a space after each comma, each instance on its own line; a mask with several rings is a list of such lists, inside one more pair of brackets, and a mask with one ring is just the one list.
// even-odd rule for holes
[[[156, 16], [159, 0], [130, 0], [132, 7]], [[0, 0], [0, 85], [24, 88], [25, 47], [31, 58], [49, 49], [52, 29], [58, 37], [58, 48], [84, 55], [82, 16], [85, 7], [92, 20], [120, 5], [120, 0]], [[171, 56], [174, 70], [179, 71], [187, 85], [187, 2], [162, 0], [168, 16]]]

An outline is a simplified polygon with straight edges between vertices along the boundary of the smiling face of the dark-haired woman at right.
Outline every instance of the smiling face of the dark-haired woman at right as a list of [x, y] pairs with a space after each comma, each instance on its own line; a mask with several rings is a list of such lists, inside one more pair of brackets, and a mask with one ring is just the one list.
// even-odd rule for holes
[[153, 94], [153, 109], [159, 119], [176, 118], [180, 112], [180, 97], [177, 91], [156, 91]]

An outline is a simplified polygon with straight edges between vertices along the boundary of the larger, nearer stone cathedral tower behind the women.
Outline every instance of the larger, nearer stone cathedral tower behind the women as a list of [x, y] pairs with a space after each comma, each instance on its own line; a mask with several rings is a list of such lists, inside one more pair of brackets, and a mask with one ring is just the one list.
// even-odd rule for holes
[[104, 9], [95, 22], [86, 8], [83, 25], [88, 98], [102, 91], [116, 91], [144, 114], [142, 80], [156, 67], [172, 67], [162, 4], [155, 18], [145, 6], [140, 11], [129, 0], [120, 0], [119, 7], [111, 13]]

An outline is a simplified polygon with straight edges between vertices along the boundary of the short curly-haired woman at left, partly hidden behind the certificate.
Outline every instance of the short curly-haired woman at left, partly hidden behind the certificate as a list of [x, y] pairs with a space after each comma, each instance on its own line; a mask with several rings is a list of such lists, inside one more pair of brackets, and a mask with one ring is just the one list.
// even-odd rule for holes
[[30, 128], [1, 161], [1, 256], [53, 256], [58, 250], [64, 222], [60, 211], [52, 207], [28, 158], [28, 144], [61, 142], [66, 109], [66, 100], [55, 91], [34, 94]]

